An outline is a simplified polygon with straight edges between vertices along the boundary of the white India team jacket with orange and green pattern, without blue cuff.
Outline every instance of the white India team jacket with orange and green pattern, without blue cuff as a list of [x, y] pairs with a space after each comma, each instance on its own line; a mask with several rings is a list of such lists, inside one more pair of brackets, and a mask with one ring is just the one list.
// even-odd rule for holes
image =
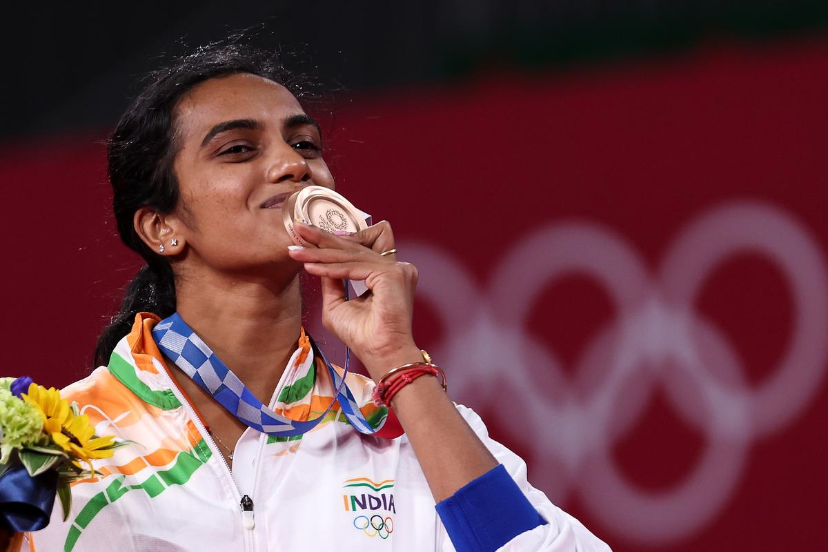
[[[301, 439], [246, 430], [231, 471], [164, 365], [152, 341], [156, 322], [153, 315], [139, 314], [109, 366], [63, 391], [89, 415], [97, 434], [142, 446], [97, 461], [101, 476], [72, 489], [69, 521], [61, 521], [55, 502], [51, 523], [33, 534], [31, 550], [455, 550], [405, 435], [359, 434], [344, 422], [338, 405]], [[313, 361], [307, 342], [301, 342], [273, 393], [272, 408], [297, 420], [325, 410], [333, 400], [330, 379], [325, 369], [314, 376]], [[370, 401], [373, 382], [359, 375], [346, 382], [369, 421], [385, 415]], [[489, 438], [474, 411], [458, 409], [548, 521], [500, 550], [609, 550], [529, 485], [526, 464]], [[243, 511], [245, 496], [252, 511]]]

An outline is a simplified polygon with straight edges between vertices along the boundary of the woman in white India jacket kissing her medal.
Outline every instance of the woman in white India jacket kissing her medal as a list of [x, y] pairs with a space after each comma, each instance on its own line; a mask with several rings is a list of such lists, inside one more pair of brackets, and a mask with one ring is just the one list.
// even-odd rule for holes
[[[141, 446], [96, 463], [37, 550], [609, 550], [450, 401], [412, 337], [416, 269], [397, 262], [388, 223], [354, 235], [297, 224], [309, 246], [292, 244], [286, 197], [334, 187], [301, 91], [267, 55], [207, 47], [154, 74], [118, 123], [115, 217], [147, 267], [99, 338], [102, 366], [64, 396], [97, 433]], [[340, 388], [301, 328], [302, 270], [320, 277], [323, 322], [370, 379]], [[346, 300], [346, 278], [370, 292]], [[201, 362], [224, 379], [195, 376]], [[392, 368], [395, 394], [374, 393], [390, 411], [372, 393]], [[321, 423], [267, 434], [267, 412]]]

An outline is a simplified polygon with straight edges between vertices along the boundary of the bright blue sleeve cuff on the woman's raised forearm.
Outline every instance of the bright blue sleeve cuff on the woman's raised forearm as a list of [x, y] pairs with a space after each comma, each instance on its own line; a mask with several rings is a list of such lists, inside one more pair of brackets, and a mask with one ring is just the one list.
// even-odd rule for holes
[[546, 525], [503, 464], [436, 507], [458, 552], [493, 552], [517, 535]]

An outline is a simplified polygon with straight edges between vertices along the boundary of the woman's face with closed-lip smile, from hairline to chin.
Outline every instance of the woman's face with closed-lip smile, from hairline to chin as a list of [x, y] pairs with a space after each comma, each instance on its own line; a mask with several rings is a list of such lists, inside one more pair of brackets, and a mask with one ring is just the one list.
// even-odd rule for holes
[[242, 272], [288, 260], [282, 201], [307, 185], [334, 187], [313, 119], [285, 87], [253, 74], [196, 86], [176, 119], [181, 196], [171, 220], [187, 258]]

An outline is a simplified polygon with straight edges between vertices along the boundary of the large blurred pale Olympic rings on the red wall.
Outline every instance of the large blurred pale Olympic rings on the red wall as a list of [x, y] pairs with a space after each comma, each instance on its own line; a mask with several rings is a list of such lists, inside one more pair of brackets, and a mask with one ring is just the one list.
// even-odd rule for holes
[[[657, 274], [619, 234], [595, 223], [551, 224], [513, 242], [485, 290], [449, 252], [398, 246], [419, 269], [418, 298], [447, 329], [430, 350], [455, 367], [455, 397], [500, 413], [498, 425], [513, 428], [512, 439], [531, 439], [525, 448], [545, 463], [533, 482], [554, 502], [577, 492], [605, 525], [648, 545], [700, 530], [733, 494], [753, 441], [783, 430], [820, 390], [828, 359], [828, 270], [820, 247], [789, 214], [756, 202], [724, 204], [696, 218]], [[793, 303], [788, 348], [758, 386], [749, 384], [727, 336], [695, 308], [716, 266], [744, 251], [780, 269]], [[570, 379], [523, 326], [546, 286], [573, 273], [598, 281], [617, 316], [588, 340]], [[708, 444], [681, 483], [653, 493], [628, 482], [610, 451], [659, 386]]]

